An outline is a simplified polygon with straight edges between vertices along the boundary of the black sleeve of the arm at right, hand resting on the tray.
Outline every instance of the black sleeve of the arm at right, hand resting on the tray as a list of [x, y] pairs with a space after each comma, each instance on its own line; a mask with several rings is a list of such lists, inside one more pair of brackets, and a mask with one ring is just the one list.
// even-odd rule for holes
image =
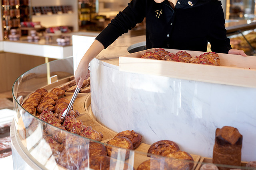
[[211, 50], [216, 53], [228, 53], [232, 49], [230, 45], [230, 39], [226, 36], [225, 18], [224, 12], [221, 7], [221, 3], [216, 9], [215, 16], [210, 22], [209, 30], [209, 42], [211, 44]]

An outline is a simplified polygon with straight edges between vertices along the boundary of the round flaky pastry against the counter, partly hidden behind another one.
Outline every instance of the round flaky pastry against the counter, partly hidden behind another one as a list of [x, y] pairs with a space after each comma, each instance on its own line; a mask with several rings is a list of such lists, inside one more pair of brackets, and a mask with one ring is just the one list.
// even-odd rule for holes
[[119, 132], [116, 136], [127, 137], [128, 139], [130, 139], [130, 141], [132, 141], [132, 145], [134, 149], [138, 148], [138, 146], [142, 141], [142, 136], [139, 133], [136, 133], [134, 130], [122, 131], [122, 132]]

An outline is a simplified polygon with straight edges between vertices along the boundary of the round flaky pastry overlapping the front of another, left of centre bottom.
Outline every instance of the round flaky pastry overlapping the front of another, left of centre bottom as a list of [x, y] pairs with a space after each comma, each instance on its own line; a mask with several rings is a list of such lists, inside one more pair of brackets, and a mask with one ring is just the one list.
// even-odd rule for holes
[[[112, 147], [112, 146], [115, 146], [115, 147]], [[124, 148], [128, 150], [124, 150], [120, 148]], [[130, 139], [126, 137], [114, 137], [110, 139], [110, 141], [108, 141], [106, 145], [108, 156], [111, 156], [112, 158], [117, 158], [120, 152], [125, 154], [125, 159], [129, 158], [129, 155], [130, 155], [129, 149], [133, 150], [133, 145]]]

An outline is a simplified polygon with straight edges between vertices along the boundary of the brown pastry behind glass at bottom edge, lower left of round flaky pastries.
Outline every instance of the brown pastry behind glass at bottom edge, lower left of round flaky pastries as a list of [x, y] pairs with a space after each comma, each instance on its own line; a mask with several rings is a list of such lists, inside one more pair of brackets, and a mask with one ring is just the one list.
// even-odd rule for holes
[[[79, 170], [84, 170], [88, 168], [93, 170], [109, 170], [110, 168], [110, 157], [103, 155], [92, 156], [90, 159], [86, 159], [81, 162]], [[89, 169], [89, 168], [88, 168]]]

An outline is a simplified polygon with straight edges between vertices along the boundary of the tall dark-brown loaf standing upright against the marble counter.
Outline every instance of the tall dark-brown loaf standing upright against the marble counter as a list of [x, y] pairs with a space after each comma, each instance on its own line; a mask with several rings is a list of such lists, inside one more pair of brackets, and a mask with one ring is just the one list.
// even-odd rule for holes
[[[212, 163], [241, 166], [241, 149], [243, 136], [238, 129], [231, 126], [217, 128], [213, 148]], [[220, 170], [228, 168], [218, 167]]]

